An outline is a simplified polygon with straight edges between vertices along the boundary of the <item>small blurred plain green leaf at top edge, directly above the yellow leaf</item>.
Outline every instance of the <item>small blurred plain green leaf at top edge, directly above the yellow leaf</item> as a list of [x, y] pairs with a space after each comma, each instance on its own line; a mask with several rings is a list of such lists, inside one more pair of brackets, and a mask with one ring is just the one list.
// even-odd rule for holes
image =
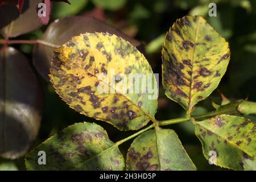
[[106, 10], [117, 10], [123, 7], [126, 3], [126, 0], [92, 0], [94, 5], [101, 7]]

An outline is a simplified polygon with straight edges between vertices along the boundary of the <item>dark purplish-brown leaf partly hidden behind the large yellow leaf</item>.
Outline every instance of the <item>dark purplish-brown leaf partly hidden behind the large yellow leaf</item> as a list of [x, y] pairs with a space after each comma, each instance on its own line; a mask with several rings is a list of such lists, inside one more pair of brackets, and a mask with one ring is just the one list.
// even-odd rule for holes
[[[85, 32], [106, 32], [121, 36], [123, 39], [129, 41], [131, 44], [139, 48], [142, 46], [140, 42], [118, 31], [116, 28], [101, 22], [100, 20], [83, 17], [70, 16], [63, 19], [56, 19], [49, 24], [47, 30], [44, 32], [41, 40], [49, 44], [61, 46], [72, 36], [76, 36]], [[44, 44], [37, 44], [34, 47], [33, 64], [37, 71], [47, 81], [49, 80], [49, 68], [51, 67], [52, 52], [55, 48], [46, 46]]]

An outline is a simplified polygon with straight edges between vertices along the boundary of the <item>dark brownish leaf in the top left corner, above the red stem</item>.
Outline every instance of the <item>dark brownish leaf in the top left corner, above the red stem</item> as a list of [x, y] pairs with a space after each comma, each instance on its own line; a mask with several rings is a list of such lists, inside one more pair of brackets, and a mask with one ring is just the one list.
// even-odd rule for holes
[[42, 26], [36, 7], [42, 0], [24, 1], [22, 14], [12, 3], [0, 7], [0, 33], [10, 38], [34, 31]]

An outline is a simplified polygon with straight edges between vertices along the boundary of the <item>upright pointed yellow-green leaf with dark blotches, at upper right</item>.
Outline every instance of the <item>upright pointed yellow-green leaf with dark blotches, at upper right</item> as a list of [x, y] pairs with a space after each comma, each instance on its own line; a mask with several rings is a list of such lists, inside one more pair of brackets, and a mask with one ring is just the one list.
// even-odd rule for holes
[[190, 115], [217, 88], [230, 59], [228, 43], [201, 16], [178, 19], [166, 34], [163, 86]]

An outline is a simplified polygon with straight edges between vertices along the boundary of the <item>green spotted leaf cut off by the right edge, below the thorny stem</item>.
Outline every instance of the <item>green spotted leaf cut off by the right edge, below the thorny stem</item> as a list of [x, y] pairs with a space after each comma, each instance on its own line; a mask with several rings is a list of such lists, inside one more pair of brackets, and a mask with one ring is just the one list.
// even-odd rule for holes
[[193, 123], [205, 158], [220, 167], [253, 168], [251, 164], [255, 164], [256, 159], [256, 126], [253, 122], [233, 115], [218, 115]]

